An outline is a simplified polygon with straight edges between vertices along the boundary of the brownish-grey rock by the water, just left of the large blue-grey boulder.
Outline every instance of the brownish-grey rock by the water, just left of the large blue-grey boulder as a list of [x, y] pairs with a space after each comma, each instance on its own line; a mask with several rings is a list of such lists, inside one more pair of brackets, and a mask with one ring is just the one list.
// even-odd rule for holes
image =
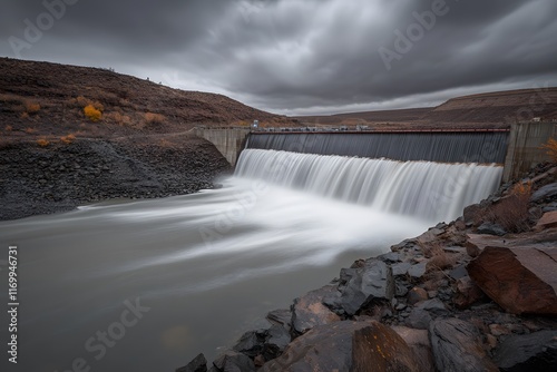
[[339, 315], [323, 304], [324, 297], [336, 298], [336, 286], [325, 285], [294, 300], [292, 325], [296, 332], [305, 333], [315, 325], [334, 323], [341, 320]]

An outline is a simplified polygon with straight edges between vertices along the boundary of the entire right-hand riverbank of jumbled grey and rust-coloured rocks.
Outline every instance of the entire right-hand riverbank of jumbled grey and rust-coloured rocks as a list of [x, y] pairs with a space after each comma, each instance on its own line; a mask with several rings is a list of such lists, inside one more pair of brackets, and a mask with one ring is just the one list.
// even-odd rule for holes
[[555, 371], [556, 200], [539, 166], [177, 371]]

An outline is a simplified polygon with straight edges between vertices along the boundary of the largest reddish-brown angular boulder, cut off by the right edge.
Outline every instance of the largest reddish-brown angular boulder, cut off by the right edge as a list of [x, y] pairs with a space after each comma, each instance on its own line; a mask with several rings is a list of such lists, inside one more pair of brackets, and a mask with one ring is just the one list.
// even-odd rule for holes
[[467, 270], [508, 312], [557, 314], [557, 247], [486, 247]]

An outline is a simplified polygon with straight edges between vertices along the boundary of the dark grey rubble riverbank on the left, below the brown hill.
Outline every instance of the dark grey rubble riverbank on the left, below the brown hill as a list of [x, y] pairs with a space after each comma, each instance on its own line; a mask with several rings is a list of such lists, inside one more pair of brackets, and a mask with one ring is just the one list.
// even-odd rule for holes
[[212, 188], [232, 172], [216, 148], [190, 134], [77, 139], [0, 148], [0, 219], [66, 212], [114, 198], [156, 198]]

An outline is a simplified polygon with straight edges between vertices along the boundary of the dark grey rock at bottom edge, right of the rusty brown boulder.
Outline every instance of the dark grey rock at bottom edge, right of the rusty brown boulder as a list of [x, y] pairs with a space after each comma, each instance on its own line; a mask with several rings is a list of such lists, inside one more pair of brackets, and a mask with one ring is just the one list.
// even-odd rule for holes
[[429, 326], [439, 371], [498, 371], [481, 346], [478, 329], [458, 319], [438, 319]]

